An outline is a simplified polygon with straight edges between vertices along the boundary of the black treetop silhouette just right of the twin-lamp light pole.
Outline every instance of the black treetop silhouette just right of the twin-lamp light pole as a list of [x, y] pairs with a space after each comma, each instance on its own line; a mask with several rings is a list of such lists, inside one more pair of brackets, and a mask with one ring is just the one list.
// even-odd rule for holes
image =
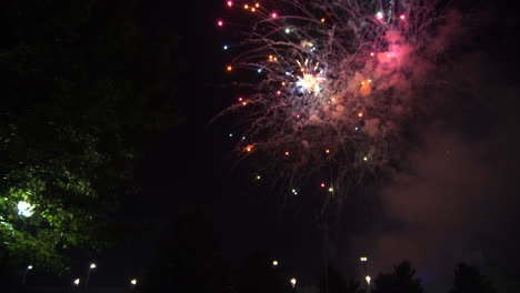
[[409, 262], [394, 266], [392, 274], [379, 274], [372, 283], [373, 293], [422, 293], [421, 282]]

